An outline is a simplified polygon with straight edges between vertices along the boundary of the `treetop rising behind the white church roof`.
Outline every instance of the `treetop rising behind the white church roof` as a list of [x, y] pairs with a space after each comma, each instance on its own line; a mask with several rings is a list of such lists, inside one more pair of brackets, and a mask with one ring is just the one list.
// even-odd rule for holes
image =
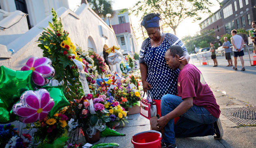
[[113, 13], [111, 0], [87, 0], [87, 1], [90, 7], [92, 8], [92, 10], [96, 12], [100, 17], [106, 18], [106, 14]]

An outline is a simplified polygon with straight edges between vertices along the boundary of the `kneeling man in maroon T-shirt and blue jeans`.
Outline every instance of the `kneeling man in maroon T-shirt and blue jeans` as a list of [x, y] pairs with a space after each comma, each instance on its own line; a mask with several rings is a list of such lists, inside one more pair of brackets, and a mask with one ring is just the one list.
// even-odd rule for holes
[[[164, 128], [162, 148], [176, 148], [175, 137], [214, 135], [221, 139], [223, 129], [219, 120], [220, 107], [204, 77], [192, 64], [183, 65], [179, 58], [183, 50], [175, 45], [165, 53], [166, 64], [173, 70], [180, 69], [178, 76], [178, 97], [164, 95], [161, 99], [162, 117], [157, 120], [159, 130]], [[173, 119], [180, 116], [174, 125]]]

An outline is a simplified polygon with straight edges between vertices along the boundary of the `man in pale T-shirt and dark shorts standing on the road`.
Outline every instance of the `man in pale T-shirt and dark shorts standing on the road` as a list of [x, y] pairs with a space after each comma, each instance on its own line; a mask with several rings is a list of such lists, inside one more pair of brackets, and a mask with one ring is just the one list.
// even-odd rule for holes
[[237, 35], [237, 30], [232, 30], [231, 31], [231, 43], [233, 45], [233, 51], [234, 51], [234, 64], [235, 67], [233, 66], [233, 69], [237, 70], [237, 57], [239, 56], [240, 60], [241, 60], [241, 64], [242, 64], [242, 69], [241, 71], [244, 71], [244, 39], [240, 36]]

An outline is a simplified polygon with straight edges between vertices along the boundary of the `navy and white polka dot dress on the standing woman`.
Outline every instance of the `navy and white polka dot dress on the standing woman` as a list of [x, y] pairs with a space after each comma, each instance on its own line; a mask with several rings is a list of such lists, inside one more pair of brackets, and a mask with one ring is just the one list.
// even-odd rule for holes
[[150, 91], [154, 99], [160, 100], [166, 94], [178, 94], [177, 80], [180, 70], [170, 69], [164, 59], [166, 49], [175, 44], [182, 46], [183, 51], [187, 51], [180, 39], [170, 33], [166, 33], [164, 41], [158, 47], [152, 48], [149, 38], [142, 43], [139, 62], [148, 67], [147, 82], [152, 86]]

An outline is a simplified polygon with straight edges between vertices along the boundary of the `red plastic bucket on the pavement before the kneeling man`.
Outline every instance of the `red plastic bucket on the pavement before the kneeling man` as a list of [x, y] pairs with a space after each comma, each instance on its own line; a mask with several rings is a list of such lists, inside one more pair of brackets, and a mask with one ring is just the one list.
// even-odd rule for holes
[[131, 139], [134, 148], [161, 148], [162, 134], [155, 130], [140, 132]]

